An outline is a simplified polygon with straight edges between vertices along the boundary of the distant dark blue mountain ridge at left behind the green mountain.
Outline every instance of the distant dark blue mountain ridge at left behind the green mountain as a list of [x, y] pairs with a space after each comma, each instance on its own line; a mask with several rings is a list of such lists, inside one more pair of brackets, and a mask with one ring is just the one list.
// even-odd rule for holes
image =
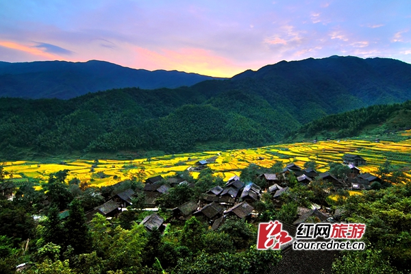
[[177, 88], [215, 77], [130, 69], [109, 62], [0, 62], [0, 97], [70, 99], [112, 88]]

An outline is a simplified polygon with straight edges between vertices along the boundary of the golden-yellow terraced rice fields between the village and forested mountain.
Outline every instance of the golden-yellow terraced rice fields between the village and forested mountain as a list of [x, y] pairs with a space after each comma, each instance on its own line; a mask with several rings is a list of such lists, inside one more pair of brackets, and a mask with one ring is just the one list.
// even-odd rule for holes
[[[411, 136], [410, 131], [401, 134], [410, 134]], [[220, 175], [224, 179], [239, 175], [240, 169], [244, 169], [249, 164], [270, 167], [275, 161], [282, 161], [284, 164], [294, 162], [303, 166], [305, 162], [315, 160], [319, 164], [317, 170], [325, 172], [328, 170], [330, 162], [342, 162], [341, 158], [345, 153], [361, 155], [367, 161], [365, 166], [360, 166], [362, 173], [375, 173], [378, 166], [386, 159], [393, 164], [411, 166], [411, 140], [401, 142], [370, 142], [366, 140], [297, 142], [253, 149], [163, 155], [153, 157], [150, 160], [101, 159], [93, 170], [94, 160], [67, 160], [66, 164], [16, 161], [5, 162], [3, 166], [13, 179], [36, 178], [40, 182], [47, 182], [51, 173], [68, 169], [70, 171], [68, 180], [78, 178], [92, 186], [109, 186], [133, 176], [141, 179], [155, 175], [171, 176], [176, 171], [184, 171], [195, 166], [199, 160], [207, 160], [212, 157], [216, 157], [216, 160], [208, 166], [216, 175]], [[103, 173], [105, 178], [100, 179], [97, 173]], [[198, 172], [192, 172], [193, 177], [198, 175]], [[411, 177], [411, 171], [408, 171], [407, 175]]]

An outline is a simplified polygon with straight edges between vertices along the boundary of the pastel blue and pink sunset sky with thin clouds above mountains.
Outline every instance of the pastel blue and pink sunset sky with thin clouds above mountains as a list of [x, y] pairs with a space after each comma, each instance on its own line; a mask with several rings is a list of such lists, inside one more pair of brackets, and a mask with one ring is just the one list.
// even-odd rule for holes
[[411, 63], [408, 0], [0, 0], [0, 60], [232, 77], [331, 55]]

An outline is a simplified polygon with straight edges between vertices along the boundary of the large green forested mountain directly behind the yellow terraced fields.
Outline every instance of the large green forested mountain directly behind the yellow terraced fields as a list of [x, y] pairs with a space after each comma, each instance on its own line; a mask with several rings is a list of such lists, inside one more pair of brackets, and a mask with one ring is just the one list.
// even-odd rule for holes
[[[267, 145], [327, 114], [406, 101], [410, 90], [410, 64], [334, 56], [176, 89], [123, 88], [69, 100], [1, 98], [0, 157]], [[362, 112], [357, 116], [366, 117]]]

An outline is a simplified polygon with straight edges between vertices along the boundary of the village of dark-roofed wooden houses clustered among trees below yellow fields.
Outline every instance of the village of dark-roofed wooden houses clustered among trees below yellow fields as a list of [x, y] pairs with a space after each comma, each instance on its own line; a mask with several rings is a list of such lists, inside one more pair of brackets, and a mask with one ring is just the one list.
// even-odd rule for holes
[[[264, 182], [263, 184], [260, 183], [260, 186], [253, 182], [242, 182], [240, 177], [234, 175], [225, 182], [224, 186], [214, 186], [202, 193], [198, 200], [186, 201], [175, 208], [169, 208], [169, 210], [173, 212], [173, 219], [185, 221], [190, 216], [197, 216], [199, 219], [208, 222], [211, 229], [215, 230], [227, 218], [234, 217], [253, 222], [257, 216], [255, 204], [260, 201], [263, 193], [269, 193], [273, 203], [280, 208], [282, 206], [282, 195], [290, 190], [288, 186], [290, 175], [295, 176], [301, 186], [310, 186], [313, 180], [322, 180], [329, 183], [330, 189], [334, 192], [338, 189], [369, 190], [373, 182], [382, 182], [375, 175], [360, 173], [358, 166], [366, 164], [366, 160], [359, 155], [345, 154], [343, 163], [350, 170], [343, 179], [338, 179], [328, 171], [318, 173], [312, 168], [302, 169], [294, 163], [286, 165], [280, 173], [256, 174], [256, 179]], [[207, 169], [207, 164], [206, 160], [199, 160], [192, 170]], [[140, 193], [144, 194], [144, 210], [158, 211], [156, 200], [162, 195], [168, 195], [169, 190], [176, 186], [195, 188], [195, 183], [187, 182], [181, 177], [168, 177], [166, 179], [161, 175], [149, 177], [145, 181], [142, 190], [139, 190]], [[87, 212], [86, 217], [91, 220], [96, 213], [102, 214], [107, 219], [119, 216], [121, 212], [127, 210], [127, 207], [132, 206], [132, 199], [138, 194], [136, 191], [129, 188], [114, 195], [101, 206]], [[332, 212], [323, 205], [312, 205], [312, 208], [299, 207], [296, 220], [292, 225], [303, 223], [312, 216], [318, 218], [318, 221], [334, 221], [334, 219], [339, 220], [340, 212]], [[147, 216], [142, 224], [151, 231], [154, 227], [164, 229], [164, 224], [169, 223], [169, 221], [162, 219], [157, 213], [153, 213]]]

